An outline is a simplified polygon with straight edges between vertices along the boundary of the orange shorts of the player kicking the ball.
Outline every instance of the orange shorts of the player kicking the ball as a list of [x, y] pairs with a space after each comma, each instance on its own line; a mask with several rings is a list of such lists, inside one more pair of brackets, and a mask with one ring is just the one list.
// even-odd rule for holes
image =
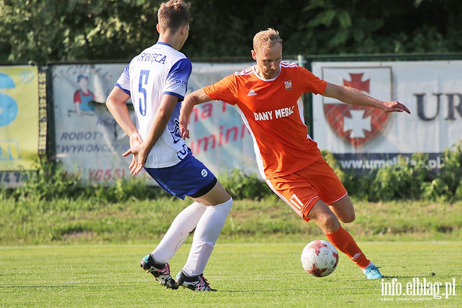
[[332, 204], [347, 195], [347, 189], [322, 157], [293, 174], [265, 182], [304, 221], [310, 220], [307, 215], [316, 201]]

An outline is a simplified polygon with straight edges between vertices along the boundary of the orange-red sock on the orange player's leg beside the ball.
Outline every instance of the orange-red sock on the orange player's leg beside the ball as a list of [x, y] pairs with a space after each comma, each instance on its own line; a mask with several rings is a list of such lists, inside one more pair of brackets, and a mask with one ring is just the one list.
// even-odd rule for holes
[[366, 268], [369, 265], [370, 261], [364, 256], [351, 234], [341, 226], [336, 232], [326, 234], [325, 236], [331, 241], [332, 245], [347, 255], [359, 267]]

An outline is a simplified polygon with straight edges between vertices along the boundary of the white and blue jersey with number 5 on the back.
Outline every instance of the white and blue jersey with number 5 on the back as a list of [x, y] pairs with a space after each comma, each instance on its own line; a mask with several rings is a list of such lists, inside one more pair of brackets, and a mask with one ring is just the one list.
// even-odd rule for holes
[[191, 71], [191, 62], [183, 53], [158, 42], [134, 57], [115, 84], [131, 96], [137, 129], [143, 140], [162, 96], [170, 94], [178, 98], [166, 128], [146, 158], [146, 168], [174, 166], [188, 155], [188, 148], [180, 137], [178, 118]]

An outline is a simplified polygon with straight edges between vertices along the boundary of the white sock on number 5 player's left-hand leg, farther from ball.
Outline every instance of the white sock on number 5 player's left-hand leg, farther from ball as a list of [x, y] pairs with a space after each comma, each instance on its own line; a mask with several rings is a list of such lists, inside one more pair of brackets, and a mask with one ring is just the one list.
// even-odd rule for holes
[[152, 258], [159, 263], [168, 263], [188, 235], [196, 228], [197, 223], [205, 213], [205, 209], [206, 206], [199, 202], [194, 202], [183, 209], [171, 223], [159, 245], [151, 253]]

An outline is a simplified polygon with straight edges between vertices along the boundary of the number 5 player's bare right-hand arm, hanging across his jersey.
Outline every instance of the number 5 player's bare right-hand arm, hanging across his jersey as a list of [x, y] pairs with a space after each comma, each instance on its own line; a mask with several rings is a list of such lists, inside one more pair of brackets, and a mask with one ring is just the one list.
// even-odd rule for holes
[[130, 174], [137, 175], [143, 168], [149, 151], [167, 126], [168, 120], [170, 119], [171, 113], [174, 110], [177, 102], [178, 98], [176, 96], [164, 94], [162, 97], [162, 102], [159, 106], [159, 110], [157, 110], [152, 119], [152, 123], [149, 127], [146, 138], [143, 140], [143, 142], [135, 146], [131, 146], [130, 144], [130, 148], [125, 153], [123, 153], [122, 156], [124, 157], [133, 154], [133, 160], [130, 164]]

